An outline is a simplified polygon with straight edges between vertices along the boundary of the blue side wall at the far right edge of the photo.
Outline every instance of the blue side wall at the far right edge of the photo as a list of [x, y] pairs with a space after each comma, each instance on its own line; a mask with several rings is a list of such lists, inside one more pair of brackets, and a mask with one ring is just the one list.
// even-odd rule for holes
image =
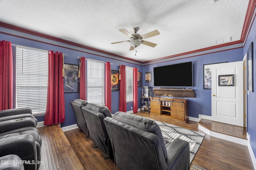
[[[255, 13], [254, 9], [254, 13]], [[254, 18], [253, 18], [254, 19]], [[251, 21], [252, 22], [252, 21]], [[244, 43], [244, 55], [247, 53], [250, 44], [253, 42], [253, 90], [247, 94], [247, 132], [250, 135], [250, 145], [254, 155], [256, 154], [256, 21], [253, 20], [252, 27]]]

